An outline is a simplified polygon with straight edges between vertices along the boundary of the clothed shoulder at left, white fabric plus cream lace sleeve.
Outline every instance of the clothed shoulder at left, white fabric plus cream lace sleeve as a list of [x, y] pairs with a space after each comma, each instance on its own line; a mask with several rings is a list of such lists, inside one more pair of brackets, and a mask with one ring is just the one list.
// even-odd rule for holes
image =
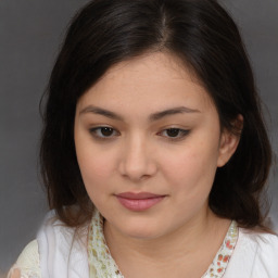
[[37, 240], [23, 250], [8, 277], [89, 277], [87, 235], [88, 226], [66, 227], [53, 211], [49, 212]]

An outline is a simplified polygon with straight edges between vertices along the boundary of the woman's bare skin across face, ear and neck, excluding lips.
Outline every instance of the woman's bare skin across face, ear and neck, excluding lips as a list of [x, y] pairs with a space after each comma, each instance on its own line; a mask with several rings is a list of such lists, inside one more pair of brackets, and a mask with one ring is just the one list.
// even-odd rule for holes
[[[201, 277], [230, 225], [207, 199], [239, 138], [220, 131], [198, 78], [168, 53], [122, 62], [79, 99], [74, 136], [85, 187], [124, 276]], [[134, 212], [116, 198], [123, 192], [163, 200]]]

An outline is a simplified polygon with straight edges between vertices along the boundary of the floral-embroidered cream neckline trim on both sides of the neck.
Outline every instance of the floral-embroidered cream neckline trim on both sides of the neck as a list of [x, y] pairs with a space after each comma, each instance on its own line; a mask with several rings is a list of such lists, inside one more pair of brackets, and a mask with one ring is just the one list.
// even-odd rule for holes
[[[238, 239], [238, 226], [231, 222], [228, 232], [213, 263], [202, 278], [222, 278], [228, 266]], [[98, 211], [93, 214], [89, 227], [88, 262], [90, 278], [124, 278], [113, 260], [103, 235], [103, 217]]]

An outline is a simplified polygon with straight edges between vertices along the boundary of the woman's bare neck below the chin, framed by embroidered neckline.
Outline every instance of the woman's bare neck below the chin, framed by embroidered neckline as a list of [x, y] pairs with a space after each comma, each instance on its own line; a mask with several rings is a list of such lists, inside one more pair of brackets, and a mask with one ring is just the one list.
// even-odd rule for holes
[[[124, 274], [134, 274], [135, 269], [130, 269], [137, 266], [141, 266], [139, 269], [162, 270], [166, 266], [164, 273], [169, 269], [169, 265], [173, 267], [177, 265], [177, 268], [184, 265], [186, 268], [190, 268], [190, 265], [194, 265], [194, 262], [200, 263], [200, 260], [203, 260], [204, 269], [201, 269], [202, 275], [202, 271], [206, 270], [218, 251], [229, 224], [229, 220], [218, 218], [207, 210], [199, 218], [194, 218], [172, 233], [162, 237], [153, 239], [131, 238], [121, 233], [109, 223], [104, 224], [104, 236], [113, 258]], [[207, 253], [207, 250], [211, 250], [211, 253]], [[202, 258], [202, 256], [204, 257]], [[197, 257], [199, 258], [197, 260]], [[137, 276], [128, 275], [126, 277]], [[148, 276], [141, 275], [140, 277]], [[156, 274], [155, 277], [162, 276]]]

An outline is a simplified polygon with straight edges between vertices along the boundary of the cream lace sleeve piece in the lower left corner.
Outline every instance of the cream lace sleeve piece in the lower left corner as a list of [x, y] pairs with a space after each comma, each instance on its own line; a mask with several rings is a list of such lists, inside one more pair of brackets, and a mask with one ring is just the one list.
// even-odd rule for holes
[[11, 278], [12, 277], [36, 277], [36, 278], [41, 277], [37, 240], [31, 241], [22, 251], [16, 263], [11, 268], [8, 277], [11, 277]]

